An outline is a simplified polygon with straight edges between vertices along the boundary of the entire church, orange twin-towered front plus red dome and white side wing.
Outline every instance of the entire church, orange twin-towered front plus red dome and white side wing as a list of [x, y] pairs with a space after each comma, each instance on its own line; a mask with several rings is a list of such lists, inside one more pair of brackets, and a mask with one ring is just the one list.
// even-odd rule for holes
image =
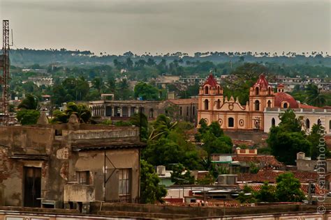
[[[216, 121], [225, 130], [260, 130], [269, 132], [270, 127], [278, 125], [279, 113], [293, 109], [303, 121], [304, 129], [311, 129], [313, 124], [321, 123], [327, 133], [331, 132], [331, 109], [320, 109], [307, 104], [300, 104], [291, 95], [284, 93], [284, 86], [277, 86], [277, 93], [261, 74], [249, 90], [249, 102], [244, 106], [233, 96], [224, 97], [223, 88], [209, 74], [207, 81], [199, 88], [198, 122], [204, 119], [207, 125]], [[309, 113], [308, 113], [309, 112]], [[319, 119], [319, 120], [318, 120]]]

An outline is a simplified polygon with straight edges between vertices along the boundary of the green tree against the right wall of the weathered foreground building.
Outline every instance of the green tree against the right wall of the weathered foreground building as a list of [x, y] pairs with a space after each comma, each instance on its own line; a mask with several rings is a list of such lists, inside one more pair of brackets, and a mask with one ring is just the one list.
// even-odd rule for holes
[[145, 160], [140, 161], [140, 202], [163, 203], [163, 197], [167, 195], [167, 190], [163, 185], [160, 185], [160, 179], [154, 172], [151, 164]]

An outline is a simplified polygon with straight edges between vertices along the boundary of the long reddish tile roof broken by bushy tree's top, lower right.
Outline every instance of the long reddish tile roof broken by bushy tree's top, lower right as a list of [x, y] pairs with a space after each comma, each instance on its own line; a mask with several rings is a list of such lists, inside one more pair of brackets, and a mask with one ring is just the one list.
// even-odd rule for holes
[[[260, 170], [258, 173], [240, 173], [238, 175], [238, 181], [240, 182], [270, 182], [275, 183], [279, 174], [286, 171], [274, 171], [274, 170]], [[317, 180], [318, 173], [309, 171], [291, 171], [294, 177], [299, 179], [300, 182], [309, 182], [310, 180]]]

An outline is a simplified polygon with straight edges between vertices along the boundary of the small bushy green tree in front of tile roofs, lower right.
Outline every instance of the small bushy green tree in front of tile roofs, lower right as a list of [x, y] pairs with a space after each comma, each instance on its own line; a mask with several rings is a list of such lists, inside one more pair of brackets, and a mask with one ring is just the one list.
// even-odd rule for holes
[[300, 181], [294, 177], [293, 173], [282, 173], [277, 179], [275, 196], [279, 202], [302, 202], [305, 199], [300, 188]]

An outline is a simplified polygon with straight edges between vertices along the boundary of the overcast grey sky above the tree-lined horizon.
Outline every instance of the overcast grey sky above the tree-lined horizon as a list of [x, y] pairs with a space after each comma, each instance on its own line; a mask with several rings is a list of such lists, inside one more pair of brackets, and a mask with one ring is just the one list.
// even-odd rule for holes
[[0, 0], [15, 47], [108, 54], [331, 54], [330, 14], [331, 0]]

